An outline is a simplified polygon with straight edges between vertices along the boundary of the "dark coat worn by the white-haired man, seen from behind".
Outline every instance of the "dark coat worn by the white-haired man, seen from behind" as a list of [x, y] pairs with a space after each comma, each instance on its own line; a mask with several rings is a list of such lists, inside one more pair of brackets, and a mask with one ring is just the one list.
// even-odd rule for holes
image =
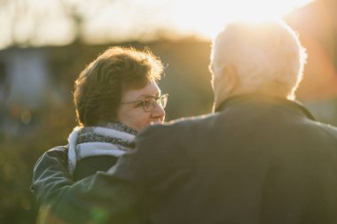
[[214, 114], [145, 128], [136, 145], [50, 200], [37, 165], [40, 202], [64, 220], [100, 208], [106, 223], [337, 223], [337, 128], [301, 104], [233, 97]]

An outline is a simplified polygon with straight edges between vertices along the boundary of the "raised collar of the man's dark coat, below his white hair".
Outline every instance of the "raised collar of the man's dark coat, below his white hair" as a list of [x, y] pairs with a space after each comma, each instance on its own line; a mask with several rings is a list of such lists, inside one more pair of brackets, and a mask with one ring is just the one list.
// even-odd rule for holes
[[310, 120], [315, 120], [314, 116], [308, 111], [304, 105], [297, 100], [288, 100], [282, 97], [271, 97], [263, 94], [244, 94], [233, 97], [228, 97], [221, 104], [216, 107], [215, 112], [222, 112], [233, 104], [239, 104], [243, 102], [264, 102], [267, 104], [282, 104], [287, 107], [291, 107], [296, 111], [302, 112]]

